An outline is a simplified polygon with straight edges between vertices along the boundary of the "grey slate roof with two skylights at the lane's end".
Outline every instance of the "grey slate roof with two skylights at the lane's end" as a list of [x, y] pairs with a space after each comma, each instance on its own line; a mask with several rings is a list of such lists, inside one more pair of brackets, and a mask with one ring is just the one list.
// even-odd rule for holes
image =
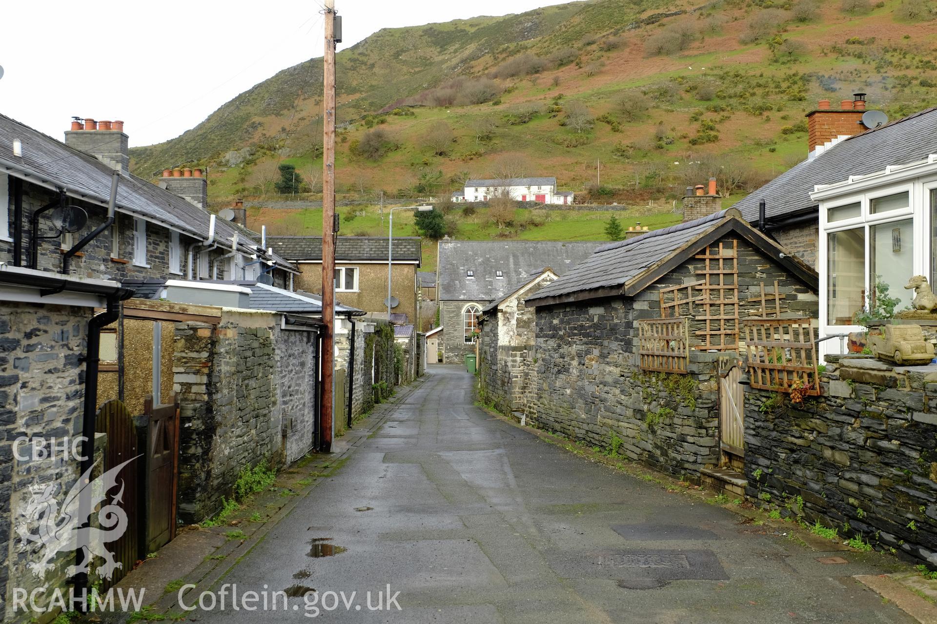
[[[563, 275], [604, 243], [556, 240], [440, 240], [439, 300], [493, 301], [552, 268]], [[468, 278], [471, 270], [474, 277]], [[498, 279], [495, 271], [503, 272]]]

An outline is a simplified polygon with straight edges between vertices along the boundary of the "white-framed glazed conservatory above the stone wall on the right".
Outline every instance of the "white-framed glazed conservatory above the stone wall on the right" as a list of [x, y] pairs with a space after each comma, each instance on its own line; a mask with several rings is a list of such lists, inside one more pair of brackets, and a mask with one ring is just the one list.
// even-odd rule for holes
[[[818, 185], [811, 198], [820, 208], [822, 338], [864, 330], [856, 319], [864, 310], [910, 308], [915, 291], [904, 286], [912, 276], [937, 280], [937, 154]], [[842, 353], [843, 345], [822, 341], [821, 353]]]

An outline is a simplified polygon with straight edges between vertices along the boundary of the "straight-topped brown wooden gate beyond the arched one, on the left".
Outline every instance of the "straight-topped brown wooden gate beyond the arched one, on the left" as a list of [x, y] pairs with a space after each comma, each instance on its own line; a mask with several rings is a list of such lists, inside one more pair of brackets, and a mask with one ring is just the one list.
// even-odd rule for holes
[[146, 428], [146, 522], [144, 552], [152, 553], [175, 537], [176, 488], [179, 465], [179, 399], [154, 405], [145, 401]]

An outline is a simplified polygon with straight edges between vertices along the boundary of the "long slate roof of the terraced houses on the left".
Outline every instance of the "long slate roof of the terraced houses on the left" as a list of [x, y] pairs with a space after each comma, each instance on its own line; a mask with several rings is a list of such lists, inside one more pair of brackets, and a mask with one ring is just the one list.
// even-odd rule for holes
[[[22, 156], [13, 155], [13, 140], [22, 143]], [[107, 206], [111, 196], [113, 169], [91, 154], [68, 147], [64, 142], [0, 115], [0, 171], [23, 176], [25, 180], [49, 188], [66, 188], [68, 196], [100, 206]], [[207, 239], [211, 215], [187, 199], [173, 195], [156, 184], [133, 174], [122, 173], [117, 185], [117, 210], [141, 217], [146, 221], [178, 230], [196, 239]], [[231, 247], [235, 225], [216, 219], [216, 241]], [[238, 248], [245, 254], [254, 253], [254, 242], [244, 232]], [[227, 244], [226, 244], [227, 243]], [[277, 265], [293, 272], [295, 267], [281, 257]]]

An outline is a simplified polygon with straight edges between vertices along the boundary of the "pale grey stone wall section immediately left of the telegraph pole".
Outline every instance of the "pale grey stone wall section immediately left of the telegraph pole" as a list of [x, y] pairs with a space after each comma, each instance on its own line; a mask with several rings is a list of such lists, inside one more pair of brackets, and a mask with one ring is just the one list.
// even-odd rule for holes
[[316, 342], [305, 329], [274, 328], [276, 406], [272, 422], [281, 423], [287, 464], [303, 457], [315, 443], [318, 396]]

